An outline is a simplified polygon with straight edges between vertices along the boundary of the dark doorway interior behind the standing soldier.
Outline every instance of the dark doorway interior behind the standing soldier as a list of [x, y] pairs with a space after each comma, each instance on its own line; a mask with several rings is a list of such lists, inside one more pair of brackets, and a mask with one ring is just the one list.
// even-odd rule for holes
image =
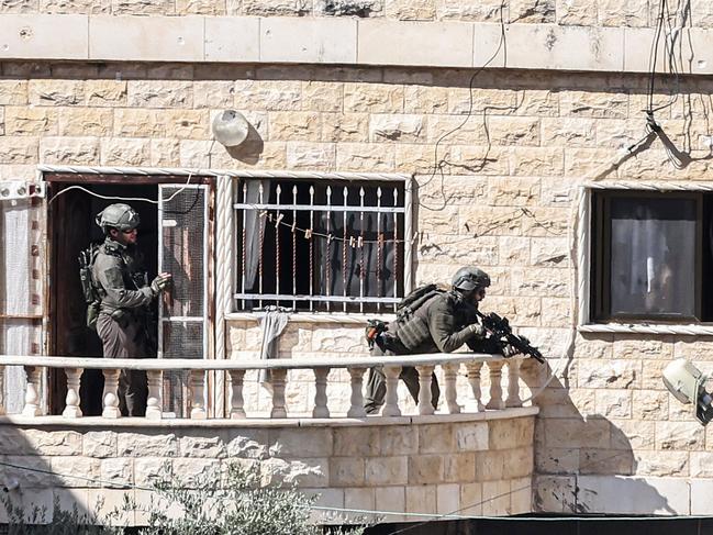
[[[145, 198], [156, 200], [155, 183], [92, 183], [81, 187], [102, 197]], [[131, 204], [141, 216], [138, 246], [144, 255], [149, 277], [157, 270], [158, 209], [145, 201], [101, 199], [80, 189], [68, 189], [76, 183], [48, 180], [52, 204], [48, 212], [51, 239], [49, 285], [49, 355], [101, 356], [101, 342], [86, 326], [86, 310], [79, 282], [78, 257], [91, 242], [102, 242], [101, 229], [94, 216], [112, 202]], [[65, 191], [66, 190], [66, 191]], [[62, 191], [65, 191], [62, 194]], [[101, 414], [103, 376], [98, 370], [85, 370], [81, 378], [81, 410], [85, 415]], [[60, 414], [65, 406], [66, 380], [64, 371], [52, 370], [48, 377], [49, 414]]]

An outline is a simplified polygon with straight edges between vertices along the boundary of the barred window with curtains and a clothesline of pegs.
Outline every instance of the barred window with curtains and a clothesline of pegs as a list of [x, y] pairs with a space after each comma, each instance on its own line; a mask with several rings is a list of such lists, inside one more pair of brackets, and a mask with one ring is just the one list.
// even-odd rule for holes
[[[259, 187], [263, 185], [263, 199], [259, 198]], [[277, 198], [277, 186], [281, 187], [281, 197]], [[297, 198], [293, 187], [297, 185]], [[331, 197], [327, 199], [327, 186], [331, 186]], [[310, 188], [314, 188], [313, 199]], [[280, 293], [301, 296], [347, 296], [364, 297], [397, 297], [402, 294], [403, 281], [400, 272], [403, 265], [403, 244], [396, 242], [403, 238], [404, 218], [402, 213], [346, 212], [346, 220], [339, 207], [345, 204], [359, 207], [359, 189], [365, 188], [364, 204], [366, 207], [403, 207], [402, 185], [388, 183], [381, 186], [381, 200], [377, 199], [375, 185], [349, 185], [345, 203], [345, 187], [338, 182], [293, 182], [288, 180], [247, 180], [244, 198], [245, 203], [280, 203], [300, 204], [309, 208], [316, 205], [333, 205], [336, 211], [314, 210], [312, 218], [309, 210], [281, 210], [282, 224], [276, 224], [278, 211], [270, 210], [260, 215], [257, 209], [247, 209], [242, 215], [245, 247], [244, 247], [244, 285], [247, 293]], [[393, 191], [398, 198], [394, 199]], [[271, 221], [268, 218], [271, 215]], [[294, 221], [293, 221], [294, 220]], [[291, 225], [301, 230], [312, 229], [312, 248], [303, 232], [298, 232], [292, 239]], [[394, 234], [394, 226], [398, 234]], [[332, 239], [327, 239], [331, 235]], [[377, 242], [382, 237], [382, 244]], [[345, 239], [361, 237], [364, 245], [353, 246]], [[278, 246], [279, 243], [279, 246]], [[294, 248], [293, 248], [294, 243]], [[242, 248], [242, 247], [241, 247]], [[312, 255], [310, 261], [310, 255]], [[397, 261], [398, 260], [398, 261]], [[260, 265], [263, 271], [260, 291]], [[364, 276], [364, 288], [361, 288]], [[279, 280], [279, 287], [278, 287]], [[310, 285], [311, 283], [311, 285]], [[346, 289], [346, 292], [345, 292]], [[257, 306], [258, 300], [252, 301]], [[250, 301], [248, 301], [250, 303]], [[268, 303], [272, 304], [272, 303]], [[289, 302], [281, 303], [289, 305]], [[324, 304], [314, 304], [324, 308]], [[332, 310], [342, 309], [342, 303], [332, 303]], [[249, 305], [248, 305], [249, 308]], [[299, 309], [305, 305], [298, 303]]]

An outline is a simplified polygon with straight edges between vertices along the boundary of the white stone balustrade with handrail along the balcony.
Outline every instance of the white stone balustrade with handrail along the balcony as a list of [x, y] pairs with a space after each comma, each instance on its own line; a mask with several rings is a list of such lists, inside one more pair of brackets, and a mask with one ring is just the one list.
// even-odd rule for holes
[[[290, 414], [286, 401], [288, 371], [298, 369], [312, 370], [314, 377], [314, 400], [312, 417], [334, 417], [328, 406], [327, 386], [330, 371], [335, 368], [346, 369], [349, 374], [350, 398], [346, 417], [365, 419], [364, 410], [364, 374], [375, 366], [380, 366], [386, 377], [385, 404], [381, 416], [401, 416], [403, 408], [399, 404], [399, 376], [403, 367], [413, 367], [419, 374], [419, 400], [416, 411], [419, 415], [431, 414], [459, 414], [461, 412], [483, 412], [486, 410], [503, 410], [505, 408], [522, 406], [520, 395], [521, 378], [520, 367], [522, 357], [503, 358], [501, 355], [486, 354], [434, 354], [413, 355], [409, 357], [358, 357], [358, 358], [314, 358], [314, 359], [272, 359], [272, 360], [194, 360], [194, 359], [103, 359], [103, 358], [69, 358], [69, 357], [35, 357], [35, 356], [3, 356], [0, 365], [0, 379], [4, 377], [4, 366], [23, 366], [27, 377], [25, 390], [25, 405], [23, 417], [36, 419], [42, 416], [43, 403], [41, 392], [41, 377], [44, 368], [62, 368], [67, 377], [66, 406], [63, 417], [77, 420], [82, 417], [80, 409], [79, 387], [85, 369], [101, 369], [104, 375], [104, 391], [102, 416], [119, 419], [118, 386], [122, 369], [145, 370], [148, 384], [148, 399], [146, 404], [146, 419], [160, 421], [163, 417], [163, 375], [164, 371], [182, 370], [190, 376], [190, 419], [207, 420], [208, 406], [205, 405], [207, 377], [210, 370], [226, 371], [231, 378], [230, 419], [243, 420], [248, 414], [258, 416], [257, 408], [245, 406], [243, 395], [245, 374], [248, 370], [270, 370], [271, 384], [271, 419], [287, 419], [297, 416]], [[482, 372], [483, 366], [488, 367], [488, 375]], [[506, 367], [506, 374], [503, 374]], [[432, 377], [434, 370], [443, 371], [442, 389], [444, 390], [443, 403], [436, 411], [432, 403]], [[459, 375], [466, 379], [461, 383], [470, 387], [467, 395], [463, 389], [458, 390]], [[503, 376], [506, 378], [506, 389], [503, 389]], [[482, 382], [487, 380], [489, 398], [483, 403], [482, 392], [486, 390]], [[2, 383], [0, 383], [2, 387]], [[506, 399], [503, 398], [503, 391]], [[0, 388], [2, 392], [2, 388]], [[459, 399], [460, 397], [460, 399]], [[0, 397], [0, 402], [2, 398]], [[0, 403], [0, 415], [4, 408]], [[342, 413], [343, 417], [344, 413]], [[18, 416], [2, 416], [18, 417]], [[299, 417], [304, 417], [299, 414]], [[369, 417], [379, 417], [378, 415]]]

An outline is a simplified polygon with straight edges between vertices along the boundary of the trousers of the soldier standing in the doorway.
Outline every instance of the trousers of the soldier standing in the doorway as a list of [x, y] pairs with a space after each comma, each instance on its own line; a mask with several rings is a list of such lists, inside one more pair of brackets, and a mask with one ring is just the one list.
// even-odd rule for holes
[[[124, 327], [103, 312], [97, 319], [97, 334], [101, 338], [104, 358], [147, 358], [143, 325], [129, 321]], [[144, 416], [148, 387], [143, 370], [121, 370], [119, 375], [119, 410], [123, 416]]]

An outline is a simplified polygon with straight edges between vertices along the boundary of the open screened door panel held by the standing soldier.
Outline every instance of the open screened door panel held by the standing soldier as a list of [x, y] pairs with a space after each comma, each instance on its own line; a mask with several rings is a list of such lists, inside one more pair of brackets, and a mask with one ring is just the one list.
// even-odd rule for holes
[[[170, 272], [174, 286], [158, 308], [158, 358], [208, 357], [208, 193], [205, 185], [159, 186], [158, 271]], [[190, 414], [188, 381], [186, 371], [164, 374], [167, 415]]]

